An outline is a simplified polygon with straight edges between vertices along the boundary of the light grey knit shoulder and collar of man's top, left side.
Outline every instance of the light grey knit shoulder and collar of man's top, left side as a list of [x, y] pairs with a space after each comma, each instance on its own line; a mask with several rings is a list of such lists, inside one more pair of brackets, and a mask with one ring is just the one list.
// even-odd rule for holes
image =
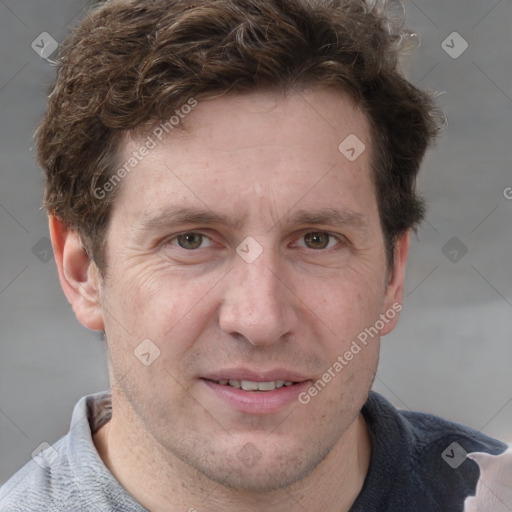
[[143, 512], [101, 460], [94, 432], [111, 417], [110, 395], [75, 405], [67, 435], [48, 446], [0, 489], [0, 512]]

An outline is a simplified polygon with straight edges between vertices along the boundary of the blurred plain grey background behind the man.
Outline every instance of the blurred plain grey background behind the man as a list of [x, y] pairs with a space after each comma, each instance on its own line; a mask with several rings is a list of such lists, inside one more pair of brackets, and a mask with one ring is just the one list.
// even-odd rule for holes
[[[66, 433], [78, 398], [108, 386], [103, 342], [75, 320], [46, 252], [31, 151], [54, 72], [31, 43], [61, 42], [87, 5], [0, 0], [0, 483]], [[405, 11], [421, 38], [407, 75], [442, 93], [448, 124], [423, 168], [430, 210], [375, 389], [512, 442], [512, 5], [406, 0]], [[469, 44], [458, 58], [441, 46], [454, 31]]]

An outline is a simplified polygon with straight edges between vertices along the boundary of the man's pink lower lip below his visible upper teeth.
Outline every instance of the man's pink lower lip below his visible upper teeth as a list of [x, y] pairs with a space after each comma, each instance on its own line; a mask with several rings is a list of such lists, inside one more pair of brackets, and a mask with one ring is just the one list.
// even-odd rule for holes
[[215, 395], [233, 409], [249, 414], [271, 414], [298, 401], [299, 394], [306, 390], [311, 382], [304, 381], [283, 386], [272, 391], [244, 391], [232, 386], [218, 384], [201, 379]]

